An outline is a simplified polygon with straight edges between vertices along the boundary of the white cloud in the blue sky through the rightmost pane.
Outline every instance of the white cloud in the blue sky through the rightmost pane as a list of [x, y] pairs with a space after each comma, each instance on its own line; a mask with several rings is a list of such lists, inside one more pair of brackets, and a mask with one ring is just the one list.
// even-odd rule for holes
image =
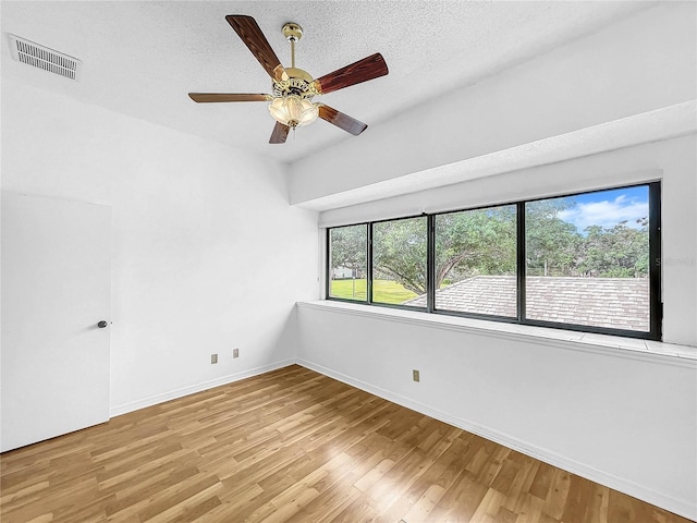
[[620, 195], [613, 200], [579, 203], [559, 214], [559, 218], [576, 226], [579, 232], [589, 226], [612, 229], [625, 220], [627, 227], [639, 229], [641, 226], [636, 220], [648, 216], [648, 202], [627, 198], [626, 195]]

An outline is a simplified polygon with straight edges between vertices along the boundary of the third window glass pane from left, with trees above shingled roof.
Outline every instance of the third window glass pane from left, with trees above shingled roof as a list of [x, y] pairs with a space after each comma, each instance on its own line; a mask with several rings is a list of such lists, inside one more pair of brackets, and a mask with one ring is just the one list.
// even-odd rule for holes
[[515, 206], [436, 216], [436, 308], [516, 317]]

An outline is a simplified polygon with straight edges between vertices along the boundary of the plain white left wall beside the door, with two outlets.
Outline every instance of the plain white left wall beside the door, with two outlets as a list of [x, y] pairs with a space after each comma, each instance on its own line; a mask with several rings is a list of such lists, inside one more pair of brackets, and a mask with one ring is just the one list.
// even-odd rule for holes
[[112, 415], [294, 361], [317, 215], [283, 166], [4, 77], [2, 188], [112, 206]]

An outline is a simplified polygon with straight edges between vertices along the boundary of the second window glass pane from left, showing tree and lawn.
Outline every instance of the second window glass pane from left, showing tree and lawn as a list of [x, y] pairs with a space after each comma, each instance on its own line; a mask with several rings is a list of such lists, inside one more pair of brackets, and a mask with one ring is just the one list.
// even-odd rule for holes
[[426, 306], [426, 223], [418, 217], [372, 224], [374, 302]]

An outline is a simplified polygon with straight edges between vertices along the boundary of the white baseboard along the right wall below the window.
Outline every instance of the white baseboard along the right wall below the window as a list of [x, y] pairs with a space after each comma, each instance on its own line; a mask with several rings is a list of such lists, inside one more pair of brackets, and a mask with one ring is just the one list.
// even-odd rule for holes
[[426, 414], [427, 416], [430, 416], [435, 419], [439, 419], [454, 427], [462, 428], [463, 430], [476, 434], [477, 436], [481, 436], [482, 438], [486, 438], [490, 441], [503, 445], [504, 447], [538, 459], [545, 463], [549, 463], [550, 465], [571, 472], [580, 477], [585, 477], [586, 479], [590, 479], [591, 482], [604, 485], [614, 490], [619, 490], [657, 507], [661, 507], [665, 510], [674, 512], [675, 514], [682, 515], [683, 518], [688, 518], [690, 520], [697, 521], [697, 508], [687, 501], [673, 498], [667, 494], [659, 492], [634, 482], [623, 479], [612, 474], [608, 474], [584, 463], [570, 460], [568, 458], [565, 458], [541, 447], [531, 445], [527, 441], [522, 441], [508, 434], [482, 427], [467, 419], [453, 417], [444, 412], [439, 411], [438, 409], [433, 409], [430, 405], [419, 403], [404, 396], [391, 392], [387, 389], [382, 389], [378, 386], [362, 381], [351, 376], [346, 376], [345, 374], [339, 373], [322, 365], [317, 365], [303, 358], [297, 358], [295, 363], [317, 373], [323, 374], [325, 376], [329, 376], [339, 381], [351, 385], [352, 387], [356, 387], [358, 389], [365, 390], [366, 392], [370, 392], [371, 394], [383, 398], [399, 405], [405, 406], [421, 414]]

